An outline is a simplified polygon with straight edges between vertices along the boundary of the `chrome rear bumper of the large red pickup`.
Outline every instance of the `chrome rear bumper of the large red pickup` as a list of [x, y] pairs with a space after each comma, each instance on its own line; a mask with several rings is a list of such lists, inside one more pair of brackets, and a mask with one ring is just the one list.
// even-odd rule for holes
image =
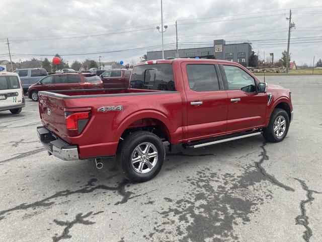
[[76, 145], [69, 145], [43, 126], [37, 127], [38, 137], [49, 155], [54, 155], [62, 160], [78, 160]]

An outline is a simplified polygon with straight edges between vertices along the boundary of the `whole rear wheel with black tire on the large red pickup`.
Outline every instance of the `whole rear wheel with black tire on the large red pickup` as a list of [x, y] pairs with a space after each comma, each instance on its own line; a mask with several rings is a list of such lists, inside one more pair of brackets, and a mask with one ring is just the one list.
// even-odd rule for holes
[[163, 142], [153, 133], [137, 131], [128, 135], [117, 152], [120, 172], [136, 183], [152, 179], [159, 173], [166, 150]]

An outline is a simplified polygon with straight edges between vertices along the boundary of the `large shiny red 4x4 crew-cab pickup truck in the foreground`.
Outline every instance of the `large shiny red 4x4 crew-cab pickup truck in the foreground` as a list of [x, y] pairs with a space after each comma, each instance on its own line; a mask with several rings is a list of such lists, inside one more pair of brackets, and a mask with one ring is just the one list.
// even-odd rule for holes
[[243, 66], [216, 59], [147, 61], [133, 68], [141, 89], [39, 92], [48, 154], [63, 160], [116, 156], [122, 174], [146, 181], [161, 169], [164, 141], [198, 148], [263, 134], [282, 141], [291, 92], [261, 83]]

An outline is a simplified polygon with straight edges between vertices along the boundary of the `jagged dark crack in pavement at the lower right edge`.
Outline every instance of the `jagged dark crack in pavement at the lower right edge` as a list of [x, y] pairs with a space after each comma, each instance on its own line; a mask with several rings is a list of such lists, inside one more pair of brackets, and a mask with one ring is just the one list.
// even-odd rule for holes
[[313, 193], [316, 193], [316, 194], [322, 194], [322, 193], [316, 192], [314, 190], [309, 190], [304, 180], [301, 180], [298, 178], [294, 178], [294, 179], [297, 180], [301, 184], [302, 189], [306, 191], [306, 200], [301, 200], [301, 203], [300, 203], [301, 215], [298, 215], [295, 218], [295, 224], [300, 224], [305, 227], [303, 238], [306, 242], [309, 242], [310, 237], [313, 235], [313, 233], [312, 233], [312, 229], [308, 226], [309, 222], [308, 222], [308, 217], [306, 215], [305, 204], [311, 203], [314, 200], [314, 198], [312, 197]]

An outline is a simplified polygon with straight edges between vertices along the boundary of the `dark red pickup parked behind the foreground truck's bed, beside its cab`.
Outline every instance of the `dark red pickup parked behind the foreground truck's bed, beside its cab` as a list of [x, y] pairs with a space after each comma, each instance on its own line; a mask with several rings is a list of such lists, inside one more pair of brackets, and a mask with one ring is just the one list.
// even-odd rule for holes
[[105, 71], [100, 78], [104, 88], [128, 88], [132, 69], [113, 69]]

